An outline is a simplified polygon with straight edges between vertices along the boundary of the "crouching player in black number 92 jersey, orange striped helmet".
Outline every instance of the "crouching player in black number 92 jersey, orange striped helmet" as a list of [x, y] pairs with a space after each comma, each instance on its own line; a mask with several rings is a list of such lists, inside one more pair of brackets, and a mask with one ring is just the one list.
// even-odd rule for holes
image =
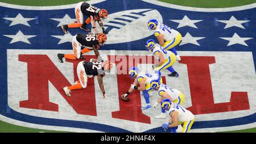
[[112, 69], [112, 67], [113, 67], [113, 63], [111, 63], [110, 61], [102, 62], [94, 58], [91, 58], [90, 62], [88, 61], [79, 62], [79, 64], [77, 65], [77, 76], [79, 78], [79, 81], [76, 81], [72, 86], [64, 87], [63, 90], [65, 94], [67, 96], [71, 96], [70, 94], [71, 90], [86, 88], [87, 77], [92, 78], [94, 76], [97, 76], [98, 84], [100, 86], [103, 98], [108, 99], [104, 89], [103, 77], [105, 76], [106, 71], [110, 73], [110, 70]]

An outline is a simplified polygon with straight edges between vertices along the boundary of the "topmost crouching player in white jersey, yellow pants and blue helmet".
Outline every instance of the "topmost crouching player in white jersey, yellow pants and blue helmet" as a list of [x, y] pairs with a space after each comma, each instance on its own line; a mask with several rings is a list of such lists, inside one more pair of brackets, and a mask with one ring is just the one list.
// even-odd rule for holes
[[180, 43], [181, 34], [163, 23], [158, 23], [156, 19], [148, 20], [147, 27], [150, 31], [154, 31], [160, 46], [163, 46], [166, 50], [171, 50], [175, 54], [176, 60], [180, 61], [180, 56], [177, 54], [174, 46]]

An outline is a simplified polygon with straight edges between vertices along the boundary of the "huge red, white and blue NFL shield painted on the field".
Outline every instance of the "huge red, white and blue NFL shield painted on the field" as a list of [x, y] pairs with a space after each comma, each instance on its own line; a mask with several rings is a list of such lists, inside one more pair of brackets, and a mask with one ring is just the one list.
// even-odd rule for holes
[[[256, 20], [251, 15], [256, 13], [255, 5], [233, 11], [177, 10], [159, 3], [134, 0], [125, 5], [112, 0], [93, 4], [109, 11], [104, 20], [108, 44], [99, 51], [117, 70], [104, 77], [108, 100], [102, 98], [97, 78], [88, 78], [87, 87], [72, 90], [72, 96], [63, 91], [80, 73], [76, 68], [81, 60], [57, 60], [57, 53], [72, 53], [73, 36], [85, 32], [70, 28], [64, 34], [60, 28], [76, 21], [74, 6], [0, 7], [1, 120], [72, 132], [164, 132], [160, 126], [167, 119], [154, 118], [160, 114], [159, 107], [142, 111], [145, 101], [139, 91], [127, 103], [119, 99], [133, 82], [127, 69], [138, 66], [152, 72], [154, 57], [145, 50], [145, 43], [156, 38], [146, 23], [156, 18], [183, 36], [176, 46], [181, 61], [174, 64], [179, 77], [168, 77], [163, 71], [162, 78], [183, 92], [183, 106], [195, 114], [191, 132], [255, 128]], [[96, 58], [93, 52], [85, 55], [86, 61]], [[151, 104], [158, 99], [156, 92], [152, 95]]]

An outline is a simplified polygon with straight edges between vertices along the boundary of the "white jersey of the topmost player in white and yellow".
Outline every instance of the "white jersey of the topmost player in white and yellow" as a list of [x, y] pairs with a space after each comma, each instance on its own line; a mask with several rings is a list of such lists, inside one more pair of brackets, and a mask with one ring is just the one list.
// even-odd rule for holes
[[156, 27], [155, 29], [155, 36], [158, 36], [160, 34], [164, 35], [165, 41], [170, 41], [170, 40], [173, 40], [179, 34], [179, 32], [177, 32], [175, 29], [172, 29], [160, 23], [158, 27]]

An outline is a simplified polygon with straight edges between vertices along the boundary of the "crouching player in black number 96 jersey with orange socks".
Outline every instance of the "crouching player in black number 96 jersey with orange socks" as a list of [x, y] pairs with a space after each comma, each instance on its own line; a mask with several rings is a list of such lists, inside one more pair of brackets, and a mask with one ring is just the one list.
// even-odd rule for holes
[[[98, 49], [100, 49], [101, 45], [104, 45], [107, 40], [107, 37], [104, 33], [99, 33], [97, 36], [94, 33], [78, 33], [73, 37], [72, 46], [73, 53], [70, 54], [62, 54], [58, 53], [57, 56], [59, 61], [63, 63], [63, 57], [68, 58], [69, 60], [77, 60], [79, 58], [84, 59], [82, 54], [93, 50], [98, 60], [102, 60]], [[81, 47], [84, 49], [81, 50]]]

